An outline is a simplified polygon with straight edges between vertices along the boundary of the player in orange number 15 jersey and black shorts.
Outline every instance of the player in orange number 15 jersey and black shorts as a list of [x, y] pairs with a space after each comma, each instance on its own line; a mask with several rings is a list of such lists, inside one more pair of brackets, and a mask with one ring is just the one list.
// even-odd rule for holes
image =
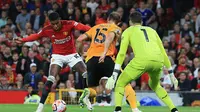
[[[102, 77], [110, 77], [113, 72], [115, 62], [113, 56], [115, 53], [115, 45], [121, 36], [121, 28], [117, 26], [120, 22], [120, 15], [113, 12], [108, 17], [108, 23], [100, 24], [92, 27], [85, 34], [81, 35], [77, 40], [83, 41], [91, 39], [90, 48], [87, 51], [86, 64], [88, 72], [88, 88], [84, 89], [79, 99], [80, 106], [87, 105], [91, 109], [89, 97], [95, 97], [100, 91], [97, 89]], [[126, 98], [132, 109], [137, 109], [135, 92], [130, 85], [126, 86]], [[106, 91], [110, 94], [110, 91]], [[140, 112], [139, 110], [137, 112]]]

